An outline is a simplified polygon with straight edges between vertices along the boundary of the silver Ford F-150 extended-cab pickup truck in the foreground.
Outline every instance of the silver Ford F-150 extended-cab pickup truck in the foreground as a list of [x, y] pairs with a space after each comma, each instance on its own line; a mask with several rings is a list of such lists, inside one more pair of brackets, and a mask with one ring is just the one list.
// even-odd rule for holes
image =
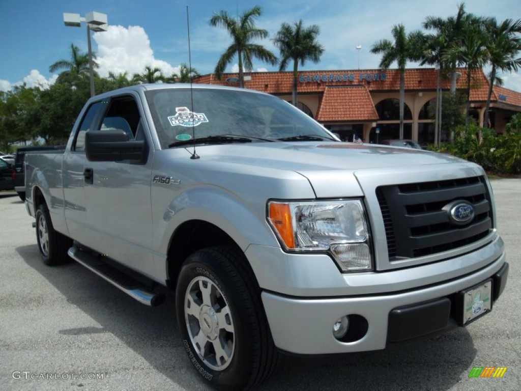
[[[346, 108], [349, 109], [349, 108]], [[268, 94], [136, 85], [91, 98], [65, 152], [26, 157], [46, 264], [156, 306], [221, 388], [279, 352], [384, 349], [492, 310], [508, 274], [482, 168], [340, 142]]]

